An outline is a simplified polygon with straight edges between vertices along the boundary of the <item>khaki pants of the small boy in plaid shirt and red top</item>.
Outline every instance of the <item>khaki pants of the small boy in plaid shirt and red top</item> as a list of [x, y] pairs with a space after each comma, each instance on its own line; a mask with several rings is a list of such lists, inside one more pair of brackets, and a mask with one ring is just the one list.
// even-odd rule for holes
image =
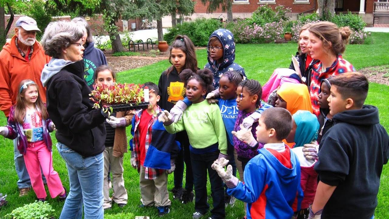
[[168, 193], [168, 174], [163, 172], [162, 175], [158, 176], [153, 180], [145, 179], [145, 167], [140, 165], [140, 176], [139, 176], [140, 200], [143, 205], [155, 207], [167, 206], [171, 204]]

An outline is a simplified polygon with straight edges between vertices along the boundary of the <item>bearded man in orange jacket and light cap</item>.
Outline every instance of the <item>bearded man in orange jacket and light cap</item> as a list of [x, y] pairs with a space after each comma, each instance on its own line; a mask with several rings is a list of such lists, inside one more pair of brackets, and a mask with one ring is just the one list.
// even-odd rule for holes
[[[8, 118], [10, 108], [16, 104], [19, 84], [24, 79], [31, 79], [39, 87], [40, 98], [46, 102], [46, 88], [40, 82], [40, 74], [50, 57], [45, 55], [42, 46], [35, 40], [40, 31], [37, 22], [27, 16], [16, 21], [15, 35], [0, 51], [0, 110]], [[31, 180], [26, 170], [23, 155], [19, 153], [14, 141], [14, 161], [18, 173], [19, 196], [26, 195], [31, 187]]]

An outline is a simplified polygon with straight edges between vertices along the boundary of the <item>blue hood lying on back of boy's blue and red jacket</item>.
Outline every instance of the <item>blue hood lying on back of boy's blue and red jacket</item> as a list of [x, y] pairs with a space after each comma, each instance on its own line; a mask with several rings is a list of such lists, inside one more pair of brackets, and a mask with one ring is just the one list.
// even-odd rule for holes
[[[290, 153], [290, 160], [292, 161], [292, 168], [289, 169], [284, 164], [282, 164], [270, 151], [268, 151], [266, 148], [261, 148], [258, 150], [259, 154], [262, 154], [266, 157], [266, 160], [268, 160], [269, 163], [272, 163], [272, 166], [274, 167], [274, 170], [277, 171], [278, 175], [280, 175], [280, 180], [284, 182], [285, 184], [292, 182], [295, 180], [297, 174], [300, 174], [300, 162], [298, 162], [298, 159], [296, 155], [287, 148]], [[293, 162], [295, 161], [295, 162]]]

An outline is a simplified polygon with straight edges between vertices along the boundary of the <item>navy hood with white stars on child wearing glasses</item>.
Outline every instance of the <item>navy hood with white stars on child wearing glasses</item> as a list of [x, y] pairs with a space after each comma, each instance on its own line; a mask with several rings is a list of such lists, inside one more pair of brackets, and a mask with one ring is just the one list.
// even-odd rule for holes
[[[213, 60], [210, 58], [210, 54], [208, 52], [208, 63], [212, 66], [212, 68], [215, 71], [219, 71], [225, 67], [228, 67], [231, 65], [235, 60], [235, 41], [234, 41], [234, 35], [231, 33], [230, 30], [226, 29], [218, 29], [215, 30], [209, 37], [217, 37], [221, 44], [223, 45], [223, 63], [217, 64], [216, 60]], [[208, 40], [208, 46], [209, 46], [209, 40]]]

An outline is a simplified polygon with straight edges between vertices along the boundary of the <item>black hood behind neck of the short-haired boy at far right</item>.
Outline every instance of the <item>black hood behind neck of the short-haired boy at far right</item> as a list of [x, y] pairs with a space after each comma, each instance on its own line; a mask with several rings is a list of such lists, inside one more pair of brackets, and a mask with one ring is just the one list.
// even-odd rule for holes
[[371, 105], [364, 105], [362, 109], [346, 110], [337, 113], [333, 117], [335, 123], [345, 122], [353, 125], [375, 125], [380, 122], [378, 108]]

